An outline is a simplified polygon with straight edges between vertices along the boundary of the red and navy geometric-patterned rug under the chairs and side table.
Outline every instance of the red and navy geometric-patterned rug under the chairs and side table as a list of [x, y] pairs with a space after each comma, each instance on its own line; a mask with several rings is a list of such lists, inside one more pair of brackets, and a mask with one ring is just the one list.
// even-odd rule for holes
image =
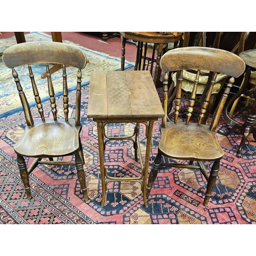
[[[249, 136], [242, 158], [237, 158], [236, 149], [241, 140], [238, 132], [227, 137], [218, 135], [225, 156], [207, 207], [202, 204], [206, 190], [204, 177], [190, 169], [168, 167], [160, 169], [148, 198], [148, 208], [144, 207], [140, 185], [136, 182], [110, 182], [105, 205], [101, 207], [97, 129], [96, 123], [87, 118], [89, 86], [82, 88], [81, 136], [90, 200], [82, 200], [74, 167], [45, 165], [38, 166], [30, 175], [33, 199], [26, 198], [13, 151], [13, 144], [25, 126], [20, 111], [0, 119], [0, 223], [256, 224], [256, 143]], [[159, 95], [161, 97], [161, 92]], [[74, 105], [75, 92], [71, 91], [71, 109]], [[37, 111], [35, 106], [32, 109]], [[240, 111], [241, 116], [243, 111]], [[50, 114], [50, 110], [46, 113]], [[160, 120], [154, 125], [150, 166], [157, 154], [159, 125]], [[228, 128], [222, 118], [221, 129]], [[111, 135], [132, 130], [132, 124], [108, 127]], [[142, 149], [146, 142], [143, 130], [144, 125], [141, 125]], [[129, 141], [109, 142], [104, 160], [109, 175], [132, 177], [140, 172], [140, 164], [134, 159], [133, 145]], [[210, 166], [210, 163], [206, 165]]]

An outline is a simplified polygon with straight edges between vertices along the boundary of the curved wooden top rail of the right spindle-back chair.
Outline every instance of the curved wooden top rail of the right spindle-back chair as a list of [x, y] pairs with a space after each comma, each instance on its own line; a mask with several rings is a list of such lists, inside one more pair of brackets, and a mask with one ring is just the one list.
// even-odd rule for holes
[[[226, 62], [224, 67], [223, 60]], [[236, 54], [209, 47], [176, 48], [165, 53], [160, 60], [163, 72], [189, 70], [191, 67], [239, 77], [245, 70], [245, 63]]]

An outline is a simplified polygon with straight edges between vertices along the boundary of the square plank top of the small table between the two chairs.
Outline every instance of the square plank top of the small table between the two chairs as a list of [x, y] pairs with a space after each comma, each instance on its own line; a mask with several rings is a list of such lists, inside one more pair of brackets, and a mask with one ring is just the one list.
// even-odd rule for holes
[[150, 71], [92, 71], [87, 116], [99, 122], [156, 121], [163, 117]]

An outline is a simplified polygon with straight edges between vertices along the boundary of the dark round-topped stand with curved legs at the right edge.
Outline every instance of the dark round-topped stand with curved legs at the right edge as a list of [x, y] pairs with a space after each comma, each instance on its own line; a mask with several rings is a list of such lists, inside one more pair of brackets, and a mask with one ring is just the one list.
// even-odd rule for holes
[[[242, 148], [243, 145], [248, 137], [249, 134], [253, 134], [254, 140], [256, 140], [256, 127], [255, 127], [255, 120], [256, 120], [256, 101], [252, 104], [250, 113], [248, 118], [244, 123], [237, 122], [232, 118], [232, 113], [234, 111], [234, 108], [237, 104], [237, 101], [241, 96], [246, 96], [249, 98], [256, 99], [256, 91], [255, 87], [253, 90], [247, 90], [249, 79], [250, 79], [250, 73], [251, 71], [256, 71], [256, 49], [247, 50], [244, 52], [241, 52], [239, 56], [244, 60], [246, 64], [246, 71], [244, 73], [244, 79], [242, 81], [241, 87], [239, 91], [227, 102], [223, 115], [225, 120], [232, 125], [232, 128], [228, 132], [219, 131], [222, 135], [228, 135], [234, 132], [235, 130], [239, 130], [241, 134], [243, 134], [238, 151], [237, 151], [237, 157], [242, 156]], [[234, 103], [236, 102], [236, 103]], [[233, 105], [233, 106], [232, 106]], [[231, 108], [232, 106], [232, 108]], [[231, 110], [230, 110], [231, 108]], [[231, 113], [230, 113], [230, 111]]]

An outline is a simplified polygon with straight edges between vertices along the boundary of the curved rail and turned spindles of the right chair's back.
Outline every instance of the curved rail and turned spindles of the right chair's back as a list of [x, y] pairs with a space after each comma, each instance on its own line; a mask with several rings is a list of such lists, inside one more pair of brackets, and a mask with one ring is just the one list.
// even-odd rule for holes
[[160, 60], [160, 68], [165, 73], [163, 82], [163, 109], [165, 113], [165, 117], [162, 120], [163, 127], [166, 127], [167, 121], [167, 92], [169, 72], [177, 71], [177, 85], [175, 90], [176, 98], [174, 107], [174, 123], [177, 123], [181, 108], [183, 70], [197, 70], [193, 91], [190, 94], [188, 103], [186, 124], [189, 123], [194, 111], [200, 71], [209, 71], [213, 73], [212, 76], [209, 76], [209, 79], [211, 80], [209, 83], [207, 83], [209, 86], [207, 88], [205, 101], [202, 104], [200, 115], [198, 117], [198, 125], [201, 125], [204, 114], [208, 108], [212, 88], [214, 87], [217, 74], [222, 73], [231, 77], [215, 111], [214, 118], [210, 124], [210, 130], [215, 131], [228, 93], [232, 87], [232, 83], [234, 82], [234, 77], [239, 77], [244, 72], [245, 63], [239, 56], [228, 51], [208, 47], [184, 47], [176, 48], [165, 53]]

